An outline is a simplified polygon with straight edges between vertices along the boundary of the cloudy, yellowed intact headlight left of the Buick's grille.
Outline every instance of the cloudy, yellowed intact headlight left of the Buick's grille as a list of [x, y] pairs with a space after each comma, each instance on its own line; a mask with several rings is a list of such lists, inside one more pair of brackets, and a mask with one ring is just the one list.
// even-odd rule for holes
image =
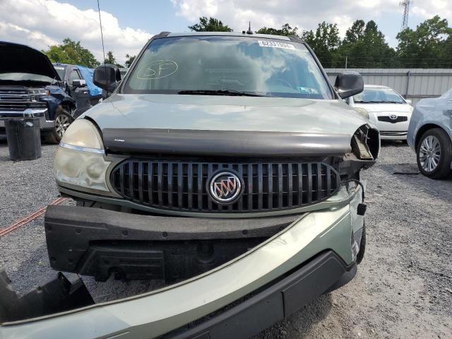
[[[86, 119], [76, 119], [64, 133], [54, 160], [57, 184], [81, 191], [109, 194], [102, 138]], [[88, 189], [88, 190], [87, 190]]]

